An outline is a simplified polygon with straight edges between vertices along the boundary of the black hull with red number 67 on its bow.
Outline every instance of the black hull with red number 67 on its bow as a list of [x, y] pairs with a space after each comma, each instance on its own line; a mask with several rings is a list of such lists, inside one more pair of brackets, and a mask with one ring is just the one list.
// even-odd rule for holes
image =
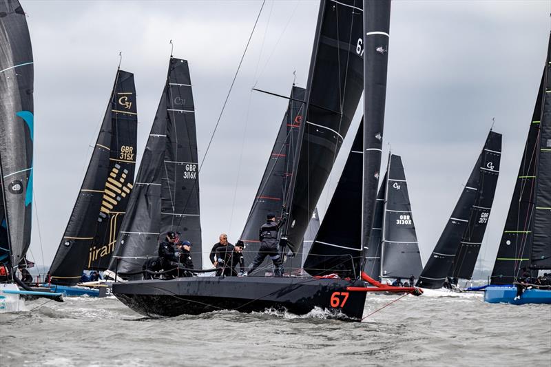
[[360, 321], [366, 293], [346, 291], [348, 286], [363, 287], [364, 282], [302, 277], [184, 277], [116, 282], [113, 294], [132, 310], [150, 317], [267, 309], [305, 315], [318, 307], [335, 317]]

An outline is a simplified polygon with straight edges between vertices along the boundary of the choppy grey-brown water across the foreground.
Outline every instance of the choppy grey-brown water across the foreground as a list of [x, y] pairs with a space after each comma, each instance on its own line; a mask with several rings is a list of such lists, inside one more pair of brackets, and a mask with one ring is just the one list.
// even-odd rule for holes
[[[399, 295], [368, 295], [364, 315]], [[114, 297], [0, 314], [0, 366], [551, 366], [551, 306], [408, 295], [362, 323], [282, 313], [147, 319]]]

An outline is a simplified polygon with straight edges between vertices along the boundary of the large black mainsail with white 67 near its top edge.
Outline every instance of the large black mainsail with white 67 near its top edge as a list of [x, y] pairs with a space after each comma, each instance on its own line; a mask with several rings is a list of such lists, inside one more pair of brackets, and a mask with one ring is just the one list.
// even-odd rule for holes
[[363, 90], [362, 1], [322, 0], [308, 83], [306, 119], [287, 196], [284, 234], [293, 252], [322, 193]]

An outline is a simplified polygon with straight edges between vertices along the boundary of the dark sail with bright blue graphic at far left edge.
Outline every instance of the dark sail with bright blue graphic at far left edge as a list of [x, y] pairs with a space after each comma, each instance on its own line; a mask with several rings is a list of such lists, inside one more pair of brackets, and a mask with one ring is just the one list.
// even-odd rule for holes
[[0, 3], [0, 262], [17, 266], [30, 244], [33, 61], [25, 12]]

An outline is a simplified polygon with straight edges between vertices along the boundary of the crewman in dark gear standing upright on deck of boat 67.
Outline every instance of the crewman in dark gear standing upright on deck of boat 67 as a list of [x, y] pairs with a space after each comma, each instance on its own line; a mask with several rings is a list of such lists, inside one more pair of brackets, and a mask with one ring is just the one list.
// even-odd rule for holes
[[278, 246], [278, 232], [280, 231], [280, 228], [282, 227], [286, 219], [287, 217], [284, 215], [282, 220], [280, 220], [279, 222], [275, 222], [275, 214], [268, 213], [268, 215], [266, 216], [266, 223], [262, 224], [260, 230], [258, 231], [260, 249], [258, 249], [256, 257], [254, 258], [251, 265], [249, 265], [247, 273], [243, 275], [251, 275], [251, 273], [255, 271], [255, 269], [258, 268], [260, 264], [262, 264], [264, 259], [269, 256], [271, 261], [273, 262], [273, 266], [275, 266], [275, 271], [273, 275], [275, 275], [276, 277], [283, 276], [283, 259], [280, 255]]

